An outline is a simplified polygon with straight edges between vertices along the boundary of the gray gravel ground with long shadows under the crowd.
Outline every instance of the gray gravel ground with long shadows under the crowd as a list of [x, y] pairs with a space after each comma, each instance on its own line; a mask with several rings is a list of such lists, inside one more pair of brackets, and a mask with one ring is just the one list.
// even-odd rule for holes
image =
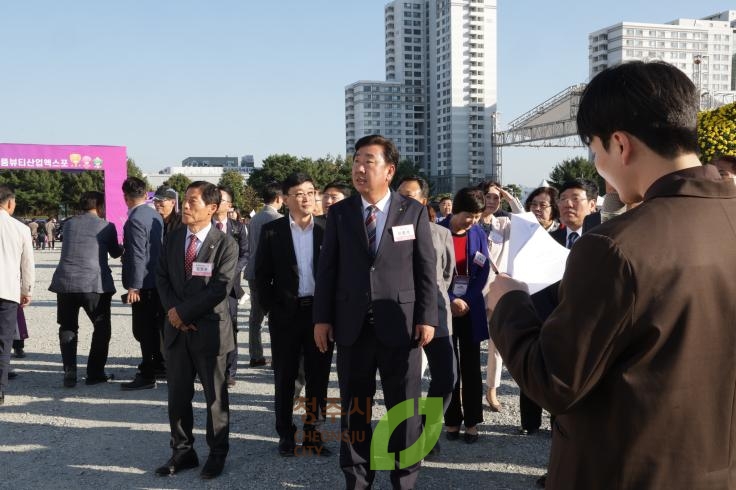
[[[273, 376], [268, 368], [248, 366], [249, 304], [241, 305], [240, 363], [237, 385], [230, 391], [230, 454], [225, 472], [210, 482], [189, 470], [156, 477], [153, 470], [170, 456], [166, 415], [166, 383], [155, 390], [125, 392], [119, 384], [132, 379], [140, 351], [133, 339], [130, 308], [120, 303], [120, 263], [111, 260], [119, 292], [113, 299], [113, 333], [107, 370], [113, 382], [76, 388], [62, 386], [58, 347], [56, 297], [47, 290], [59, 250], [36, 251], [36, 291], [26, 308], [30, 338], [27, 357], [11, 359], [19, 374], [10, 382], [0, 406], [0, 488], [342, 488], [338, 443], [330, 457], [281, 458], [276, 450]], [[80, 315], [79, 367], [84, 373], [91, 324]], [[266, 357], [269, 337], [264, 329]], [[485, 362], [485, 359], [484, 359]], [[424, 380], [426, 390], [427, 380]], [[380, 386], [380, 384], [379, 384]], [[330, 377], [330, 397], [337, 397], [337, 375]], [[473, 445], [440, 439], [441, 455], [425, 461], [419, 488], [530, 489], [545, 471], [549, 452], [549, 419], [533, 436], [516, 435], [519, 425], [518, 387], [504, 371], [499, 398], [503, 412], [485, 409], [480, 440]], [[379, 392], [378, 397], [381, 394]], [[385, 411], [377, 404], [374, 420]], [[295, 421], [300, 425], [297, 414]], [[339, 421], [328, 421], [339, 430]], [[204, 441], [204, 396], [195, 395], [195, 448], [200, 463], [207, 457]], [[380, 472], [375, 488], [391, 488]]]

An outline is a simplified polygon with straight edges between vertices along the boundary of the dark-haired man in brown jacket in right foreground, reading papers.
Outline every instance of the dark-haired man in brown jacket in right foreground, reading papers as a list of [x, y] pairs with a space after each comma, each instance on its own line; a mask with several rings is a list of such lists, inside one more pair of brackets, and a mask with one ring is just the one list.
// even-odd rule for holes
[[671, 65], [596, 76], [577, 116], [637, 208], [584, 234], [542, 324], [499, 277], [491, 336], [557, 415], [547, 488], [736, 488], [736, 186], [702, 166], [698, 93]]

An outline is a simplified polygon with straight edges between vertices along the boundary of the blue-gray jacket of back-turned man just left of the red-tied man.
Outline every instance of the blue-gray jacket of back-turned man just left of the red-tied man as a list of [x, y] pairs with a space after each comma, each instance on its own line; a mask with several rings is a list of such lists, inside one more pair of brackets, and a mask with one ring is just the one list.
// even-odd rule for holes
[[[123, 287], [156, 287], [156, 264], [161, 255], [164, 221], [147, 204], [133, 208], [123, 225]], [[66, 231], [65, 231], [66, 233]]]

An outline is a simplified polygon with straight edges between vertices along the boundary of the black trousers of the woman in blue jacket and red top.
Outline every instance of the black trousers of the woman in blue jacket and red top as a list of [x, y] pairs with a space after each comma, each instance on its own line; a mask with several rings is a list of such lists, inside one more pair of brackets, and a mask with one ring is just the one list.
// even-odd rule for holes
[[480, 342], [472, 337], [470, 316], [452, 319], [452, 346], [459, 376], [452, 401], [445, 412], [445, 425], [474, 427], [483, 422], [483, 376], [480, 370]]

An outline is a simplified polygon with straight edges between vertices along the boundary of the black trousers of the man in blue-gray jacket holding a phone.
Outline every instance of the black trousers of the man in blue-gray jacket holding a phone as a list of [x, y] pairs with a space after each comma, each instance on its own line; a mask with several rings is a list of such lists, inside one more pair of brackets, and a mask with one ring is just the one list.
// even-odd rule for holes
[[141, 344], [141, 376], [155, 379], [156, 369], [164, 364], [161, 355], [161, 329], [164, 319], [156, 289], [141, 289], [140, 301], [133, 303], [133, 337]]

